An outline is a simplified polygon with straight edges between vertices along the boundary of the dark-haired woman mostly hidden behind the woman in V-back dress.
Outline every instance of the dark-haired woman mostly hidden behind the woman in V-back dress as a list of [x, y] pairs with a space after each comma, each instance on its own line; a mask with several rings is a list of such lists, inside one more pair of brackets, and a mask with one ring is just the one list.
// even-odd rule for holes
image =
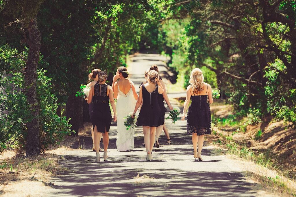
[[[159, 74], [158, 67], [155, 64], [153, 64], [150, 67], [150, 70], [155, 70]], [[173, 110], [173, 106], [170, 104], [170, 100], [168, 98], [168, 94], [167, 94], [166, 89], [165, 89], [165, 84], [163, 83], [163, 80], [161, 79], [161, 77], [159, 77], [159, 81], [160, 81], [161, 85], [163, 86], [163, 93], [157, 95], [157, 101], [158, 101], [158, 104], [159, 104], [159, 107], [160, 107], [160, 110], [161, 110], [161, 116], [160, 116], [160, 119], [159, 119], [159, 121], [160, 121], [159, 125], [160, 126], [158, 126], [156, 128], [156, 136], [155, 136], [155, 147], [156, 148], [159, 148], [160, 147], [160, 144], [158, 142], [158, 138], [159, 138], [160, 133], [161, 133], [162, 130], [167, 131], [167, 133], [165, 133], [165, 135], [167, 136], [167, 143], [168, 144], [171, 143], [170, 135], [168, 134], [168, 129], [165, 126], [165, 112], [166, 112], [166, 108], [165, 108], [164, 101], [168, 105], [168, 108], [170, 108], [170, 110]]]

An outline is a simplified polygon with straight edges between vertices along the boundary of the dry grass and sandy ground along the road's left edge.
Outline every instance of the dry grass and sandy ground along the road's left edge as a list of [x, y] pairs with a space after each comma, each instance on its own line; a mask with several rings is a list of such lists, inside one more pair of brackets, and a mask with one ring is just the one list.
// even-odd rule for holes
[[[0, 194], [3, 196], [42, 195], [53, 176], [66, 169], [59, 167], [63, 156], [44, 153], [34, 157], [15, 156], [4, 152], [0, 160]], [[5, 158], [5, 159], [3, 159]]]

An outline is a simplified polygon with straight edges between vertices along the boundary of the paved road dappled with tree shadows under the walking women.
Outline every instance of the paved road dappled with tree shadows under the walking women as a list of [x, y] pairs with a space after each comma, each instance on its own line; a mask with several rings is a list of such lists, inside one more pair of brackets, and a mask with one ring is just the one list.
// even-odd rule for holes
[[[131, 58], [129, 67], [135, 84], [143, 80], [143, 72], [152, 64], [165, 72], [163, 57], [139, 54]], [[163, 66], [162, 66], [163, 65]], [[205, 141], [204, 162], [195, 162], [191, 136], [186, 134], [186, 122], [166, 121], [173, 143], [155, 149], [154, 161], [145, 162], [140, 127], [135, 131], [135, 149], [116, 150], [116, 125], [110, 129], [109, 159], [95, 163], [90, 150], [91, 138], [84, 137], [86, 148], [65, 153], [61, 165], [70, 170], [52, 180], [56, 188], [48, 196], [259, 196], [253, 183], [244, 178], [235, 162], [218, 154]], [[82, 139], [81, 139], [82, 140]], [[162, 134], [160, 143], [165, 144]], [[75, 145], [77, 147], [77, 145]], [[102, 145], [101, 145], [102, 146]], [[136, 178], [146, 177], [146, 178]], [[148, 178], [149, 177], [149, 178]], [[262, 193], [260, 194], [262, 196]]]

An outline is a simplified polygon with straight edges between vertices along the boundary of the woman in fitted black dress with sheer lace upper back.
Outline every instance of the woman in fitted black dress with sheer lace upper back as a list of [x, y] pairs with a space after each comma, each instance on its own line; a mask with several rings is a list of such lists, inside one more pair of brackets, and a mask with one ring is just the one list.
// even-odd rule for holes
[[113, 98], [112, 87], [105, 84], [107, 79], [107, 73], [105, 71], [100, 71], [96, 79], [98, 82], [91, 86], [89, 91], [89, 96], [87, 98], [87, 103], [93, 103], [93, 110], [90, 113], [91, 123], [94, 129], [94, 145], [96, 148], [96, 162], [100, 162], [99, 153], [99, 137], [100, 133], [103, 133], [103, 144], [104, 144], [104, 161], [107, 159], [107, 149], [109, 144], [108, 131], [111, 125], [111, 110], [109, 106], [109, 100], [114, 112], [113, 120], [117, 119], [115, 102]]

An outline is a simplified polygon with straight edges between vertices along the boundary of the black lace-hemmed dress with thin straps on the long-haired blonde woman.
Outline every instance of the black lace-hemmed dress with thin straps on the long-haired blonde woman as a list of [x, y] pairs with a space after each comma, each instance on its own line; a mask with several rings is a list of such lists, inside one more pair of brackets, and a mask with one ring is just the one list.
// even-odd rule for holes
[[187, 133], [198, 136], [211, 134], [211, 110], [206, 95], [191, 96], [191, 105], [187, 114]]

